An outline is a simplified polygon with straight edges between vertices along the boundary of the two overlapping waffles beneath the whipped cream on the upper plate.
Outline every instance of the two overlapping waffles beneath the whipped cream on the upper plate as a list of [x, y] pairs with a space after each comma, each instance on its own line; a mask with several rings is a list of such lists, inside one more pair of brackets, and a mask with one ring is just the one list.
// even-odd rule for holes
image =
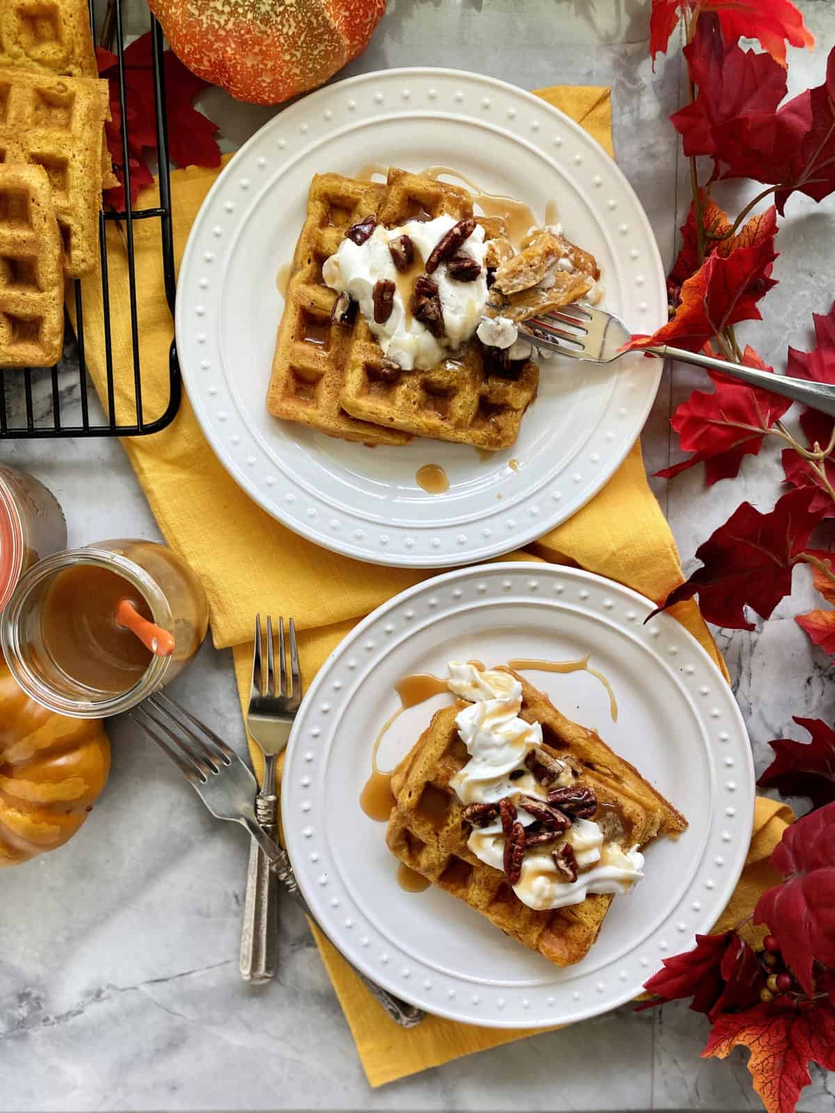
[[[531, 359], [492, 365], [475, 339], [429, 371], [381, 374], [383, 353], [362, 314], [340, 323], [337, 295], [322, 276], [346, 229], [373, 216], [386, 228], [441, 215], [473, 216], [469, 193], [422, 175], [391, 169], [383, 185], [317, 175], [298, 238], [278, 329], [267, 408], [330, 436], [365, 444], [403, 444], [412, 436], [498, 450], [513, 444], [537, 395]], [[477, 217], [488, 242], [503, 238], [495, 218]]]

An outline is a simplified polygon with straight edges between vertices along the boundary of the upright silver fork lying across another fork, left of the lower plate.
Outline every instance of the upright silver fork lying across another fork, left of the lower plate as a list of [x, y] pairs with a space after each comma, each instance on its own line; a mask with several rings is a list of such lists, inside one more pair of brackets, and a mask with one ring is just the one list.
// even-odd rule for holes
[[[278, 619], [278, 691], [275, 686], [273, 620], [267, 615], [266, 669], [262, 644], [261, 614], [255, 618], [253, 678], [249, 686], [247, 726], [264, 755], [264, 778], [255, 799], [255, 816], [273, 837], [276, 829], [277, 797], [275, 768], [278, 755], [287, 745], [293, 720], [302, 702], [302, 676], [298, 668], [296, 627], [289, 620], [289, 674], [284, 649], [284, 619]], [[253, 840], [246, 871], [244, 926], [240, 933], [240, 974], [246, 982], [268, 982], [276, 969], [278, 953], [278, 884], [264, 851]]]

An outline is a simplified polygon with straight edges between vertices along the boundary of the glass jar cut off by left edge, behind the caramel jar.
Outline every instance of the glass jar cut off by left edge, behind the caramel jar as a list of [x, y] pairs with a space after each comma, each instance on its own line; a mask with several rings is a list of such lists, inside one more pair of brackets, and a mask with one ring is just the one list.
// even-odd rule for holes
[[28, 568], [67, 545], [60, 503], [28, 472], [0, 467], [0, 611]]

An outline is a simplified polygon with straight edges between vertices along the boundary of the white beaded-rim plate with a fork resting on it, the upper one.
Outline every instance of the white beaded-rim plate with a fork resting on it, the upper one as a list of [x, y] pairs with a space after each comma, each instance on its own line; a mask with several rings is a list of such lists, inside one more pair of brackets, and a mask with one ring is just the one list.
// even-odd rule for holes
[[[177, 285], [177, 349], [204, 433], [232, 476], [285, 525], [360, 560], [436, 568], [487, 560], [569, 518], [615, 472], [641, 431], [660, 363], [552, 359], [517, 444], [489, 461], [466, 445], [336, 441], [271, 417], [265, 397], [311, 178], [370, 164], [452, 165], [598, 258], [603, 304], [635, 329], [667, 316], [647, 217], [615, 162], [581, 127], [513, 86], [455, 70], [403, 69], [330, 86], [286, 108], [240, 149], [206, 198]], [[517, 472], [510, 466], [518, 460]], [[444, 495], [415, 472], [441, 464]]]

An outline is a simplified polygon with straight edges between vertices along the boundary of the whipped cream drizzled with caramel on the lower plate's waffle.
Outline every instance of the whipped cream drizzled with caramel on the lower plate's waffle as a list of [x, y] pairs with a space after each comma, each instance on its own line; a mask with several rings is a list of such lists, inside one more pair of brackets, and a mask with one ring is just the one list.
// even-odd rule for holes
[[[522, 686], [507, 672], [481, 670], [474, 664], [450, 661], [448, 687], [469, 701], [456, 717], [459, 737], [470, 760], [452, 778], [451, 786], [462, 804], [494, 804], [517, 794], [548, 798], [546, 789], [524, 764], [528, 752], [542, 743], [539, 722], [519, 717]], [[513, 776], [511, 776], [513, 775]], [[572, 784], [574, 775], [563, 762], [563, 771], [549, 788]], [[517, 804], [518, 821], [530, 826], [534, 819]], [[529, 847], [522, 873], [513, 892], [529, 908], [564, 908], [580, 904], [590, 893], [626, 893], [644, 876], [644, 855], [638, 847], [625, 849], [607, 843], [592, 819], [574, 819], [561, 841], [570, 843], [580, 870], [576, 881], [560, 875], [551, 851], [553, 845]], [[504, 834], [497, 819], [473, 827], [468, 846], [480, 861], [504, 868]]]

